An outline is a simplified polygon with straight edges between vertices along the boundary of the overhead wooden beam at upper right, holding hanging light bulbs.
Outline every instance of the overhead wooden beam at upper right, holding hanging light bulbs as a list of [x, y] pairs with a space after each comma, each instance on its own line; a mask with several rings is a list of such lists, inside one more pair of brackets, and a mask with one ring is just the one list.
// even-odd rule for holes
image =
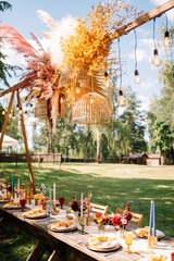
[[122, 26], [121, 28], [115, 30], [115, 33], [117, 33], [117, 35], [119, 35], [117, 37], [126, 35], [130, 30], [139, 27], [142, 24], [146, 24], [150, 20], [153, 20], [153, 18], [160, 16], [161, 14], [165, 13], [166, 11], [169, 11], [173, 8], [174, 8], [174, 0], [169, 0], [169, 1], [164, 2], [163, 4], [157, 7], [156, 9], [152, 9], [148, 13], [140, 15], [138, 18], [132, 21], [130, 23]]

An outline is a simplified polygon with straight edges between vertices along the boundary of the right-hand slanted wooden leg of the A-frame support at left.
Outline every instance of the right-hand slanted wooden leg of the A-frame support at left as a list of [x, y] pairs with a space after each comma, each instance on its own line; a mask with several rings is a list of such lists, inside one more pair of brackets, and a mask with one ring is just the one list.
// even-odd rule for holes
[[[17, 92], [18, 108], [22, 108], [18, 90], [16, 90], [16, 92]], [[29, 156], [29, 150], [28, 150], [28, 144], [27, 144], [27, 137], [26, 137], [26, 130], [25, 130], [23, 112], [20, 114], [20, 119], [21, 119], [21, 125], [22, 125], [23, 136], [24, 136], [24, 144], [25, 144], [25, 150], [26, 150], [26, 159], [27, 159], [28, 169], [29, 169], [29, 178], [30, 178], [30, 182], [32, 182], [32, 184], [33, 184], [33, 192], [36, 194], [35, 181], [34, 181], [34, 174], [33, 174], [33, 170], [32, 170], [32, 162], [30, 162], [30, 156]]]

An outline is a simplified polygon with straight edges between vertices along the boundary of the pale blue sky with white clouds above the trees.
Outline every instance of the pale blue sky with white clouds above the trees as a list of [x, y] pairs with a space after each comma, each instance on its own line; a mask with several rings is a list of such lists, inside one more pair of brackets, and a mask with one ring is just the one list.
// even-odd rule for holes
[[[14, 27], [26, 40], [30, 40], [29, 33], [33, 32], [38, 39], [42, 39], [40, 33], [48, 30], [46, 24], [38, 17], [37, 10], [48, 12], [54, 20], [72, 15], [74, 18], [87, 17], [91, 5], [97, 5], [98, 0], [9, 0], [12, 4], [12, 11], [1, 13], [0, 21], [3, 24], [9, 24]], [[101, 1], [103, 2], [103, 0]], [[129, 3], [137, 7], [138, 10], [148, 12], [157, 5], [165, 2], [165, 0], [128, 0]], [[169, 26], [174, 26], [174, 10], [167, 13]], [[165, 16], [161, 15], [156, 21], [156, 38], [159, 37], [159, 25], [165, 25]], [[160, 95], [162, 85], [158, 82], [159, 69], [151, 65], [153, 55], [153, 22], [141, 25], [136, 29], [137, 34], [137, 60], [138, 71], [141, 78], [139, 85], [134, 82], [135, 70], [135, 36], [134, 32], [121, 37], [122, 52], [122, 70], [125, 72], [122, 78], [123, 88], [132, 86], [132, 89], [137, 94], [137, 97], [142, 102], [142, 109], [148, 110], [149, 101], [153, 95]], [[113, 49], [117, 50], [117, 44], [113, 45]], [[4, 49], [8, 55], [8, 62], [18, 64], [20, 59], [13, 54], [10, 49]], [[159, 54], [164, 61], [166, 55], [163, 48], [159, 48]], [[11, 86], [18, 82], [18, 78], [13, 77], [10, 82]], [[120, 83], [117, 82], [117, 85]], [[119, 87], [119, 86], [117, 86]]]

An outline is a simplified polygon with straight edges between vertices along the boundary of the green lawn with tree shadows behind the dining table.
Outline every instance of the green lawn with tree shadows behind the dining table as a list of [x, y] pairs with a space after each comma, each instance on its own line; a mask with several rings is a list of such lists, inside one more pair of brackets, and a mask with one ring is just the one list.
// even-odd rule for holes
[[[11, 182], [14, 174], [15, 181], [20, 177], [25, 182], [27, 178], [29, 183], [27, 164], [20, 163], [17, 167], [13, 163], [0, 164], [0, 178]], [[95, 163], [65, 163], [61, 170], [57, 164], [42, 163], [41, 167], [38, 167], [38, 164], [33, 166], [37, 192], [41, 183], [48, 188], [55, 182], [57, 198], [64, 197], [67, 203], [72, 201], [73, 195], [79, 200], [82, 191], [87, 195], [90, 190], [92, 202], [109, 204], [113, 212], [117, 207], [124, 208], [128, 203], [130, 211], [144, 214], [142, 225], [149, 223], [150, 200], [154, 200], [157, 228], [174, 237], [174, 166]], [[25, 236], [21, 235], [21, 238], [23, 237], [25, 239]], [[15, 246], [17, 239], [12, 240]], [[28, 251], [34, 244], [29, 240]], [[7, 244], [5, 238], [3, 244]], [[17, 260], [25, 259], [18, 257]]]

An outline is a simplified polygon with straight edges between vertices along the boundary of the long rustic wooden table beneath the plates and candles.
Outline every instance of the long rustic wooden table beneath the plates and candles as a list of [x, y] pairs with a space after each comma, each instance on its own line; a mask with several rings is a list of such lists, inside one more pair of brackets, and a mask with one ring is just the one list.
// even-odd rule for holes
[[[34, 204], [27, 204], [25, 211], [35, 209]], [[1, 225], [12, 226], [14, 231], [24, 231], [37, 239], [37, 244], [30, 252], [27, 261], [39, 261], [46, 251], [49, 251], [49, 261], [135, 261], [147, 257], [148, 251], [154, 254], [164, 254], [169, 257], [171, 261], [171, 253], [174, 252], [174, 239], [164, 237], [158, 246], [151, 250], [146, 248], [147, 239], [135, 237], [133, 245], [133, 254], [125, 253], [124, 239], [119, 239], [121, 247], [112, 251], [92, 251], [88, 249], [88, 239], [99, 236], [100, 232], [95, 222], [90, 223], [90, 226], [85, 226], [85, 235], [79, 234], [80, 226], [77, 224], [77, 229], [72, 232], [55, 233], [48, 229], [48, 226], [52, 223], [58, 223], [61, 220], [67, 220], [65, 217], [65, 210], [60, 210], [58, 215], [51, 215], [51, 219], [38, 219], [30, 220], [22, 216], [21, 209], [8, 210], [3, 208], [3, 203], [0, 203], [0, 217]], [[104, 235], [114, 235], [115, 229], [112, 225], [105, 227]], [[141, 249], [144, 245], [144, 249]]]

